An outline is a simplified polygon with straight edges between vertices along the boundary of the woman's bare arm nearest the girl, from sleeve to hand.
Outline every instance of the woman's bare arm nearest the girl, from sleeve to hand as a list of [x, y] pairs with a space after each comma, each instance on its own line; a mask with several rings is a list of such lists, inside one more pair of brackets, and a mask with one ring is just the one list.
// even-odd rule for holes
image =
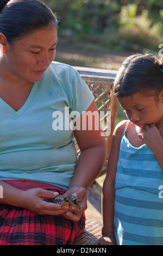
[[[97, 113], [95, 120], [92, 119], [93, 112]], [[90, 122], [92, 119], [92, 129], [90, 130], [82, 130], [82, 123], [84, 120], [86, 120], [86, 115], [88, 117], [87, 125], [88, 121]], [[81, 210], [77, 209], [77, 212], [75, 212], [75, 214], [71, 211], [67, 212], [67, 217], [71, 218], [71, 220], [78, 220], [82, 212], [86, 209], [86, 190], [97, 178], [99, 172], [101, 172], [101, 169], [103, 168], [106, 159], [106, 141], [105, 137], [102, 136], [99, 116], [94, 101], [87, 109], [87, 111], [84, 112], [81, 117], [79, 117], [79, 119], [81, 129], [75, 130], [74, 136], [77, 139], [81, 153], [72, 181], [66, 194], [75, 193], [76, 196], [80, 200], [82, 200], [82, 202], [80, 203], [82, 207]], [[76, 119], [75, 121], [78, 120]], [[97, 124], [99, 124], [99, 129], [97, 129]], [[86, 127], [85, 124], [83, 126]]]

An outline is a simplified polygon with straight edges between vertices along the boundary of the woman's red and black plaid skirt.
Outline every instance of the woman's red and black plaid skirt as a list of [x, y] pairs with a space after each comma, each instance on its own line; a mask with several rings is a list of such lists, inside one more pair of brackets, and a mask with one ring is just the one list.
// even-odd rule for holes
[[[24, 182], [29, 184], [30, 181]], [[36, 183], [37, 187], [65, 193], [65, 190], [54, 189], [51, 185], [42, 187], [41, 182], [34, 182], [28, 188]], [[53, 202], [53, 198], [48, 201]], [[0, 204], [0, 245], [72, 245], [84, 227], [84, 213], [78, 222], [73, 222], [62, 216], [37, 215], [23, 208]]]

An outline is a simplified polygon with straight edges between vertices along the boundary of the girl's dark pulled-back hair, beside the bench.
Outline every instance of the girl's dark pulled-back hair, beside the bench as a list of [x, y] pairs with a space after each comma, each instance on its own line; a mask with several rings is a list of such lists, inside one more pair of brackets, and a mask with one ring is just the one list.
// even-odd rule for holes
[[135, 93], [155, 96], [162, 89], [163, 61], [149, 53], [133, 54], [124, 60], [114, 83], [114, 94], [118, 97]]

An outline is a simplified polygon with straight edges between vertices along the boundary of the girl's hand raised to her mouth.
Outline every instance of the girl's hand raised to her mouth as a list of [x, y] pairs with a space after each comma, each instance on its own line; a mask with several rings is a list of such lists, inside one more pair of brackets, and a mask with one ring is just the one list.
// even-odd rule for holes
[[141, 131], [142, 133], [139, 133], [138, 137], [155, 153], [159, 146], [162, 145], [162, 137], [159, 130], [154, 124], [150, 124], [145, 125]]

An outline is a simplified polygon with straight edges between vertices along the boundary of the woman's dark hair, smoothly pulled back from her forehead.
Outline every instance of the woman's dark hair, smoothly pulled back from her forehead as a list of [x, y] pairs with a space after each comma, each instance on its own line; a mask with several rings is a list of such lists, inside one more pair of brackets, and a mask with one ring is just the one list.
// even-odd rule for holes
[[53, 23], [57, 18], [39, 0], [0, 0], [0, 33], [9, 43]]

